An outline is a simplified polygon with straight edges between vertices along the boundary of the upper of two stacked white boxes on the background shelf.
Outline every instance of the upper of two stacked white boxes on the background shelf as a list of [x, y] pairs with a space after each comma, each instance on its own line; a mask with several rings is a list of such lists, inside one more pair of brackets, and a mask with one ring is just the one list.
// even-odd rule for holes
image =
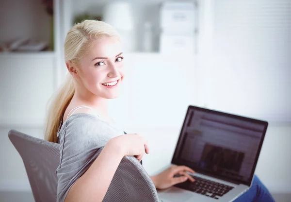
[[162, 33], [194, 33], [194, 2], [165, 2], [161, 7]]

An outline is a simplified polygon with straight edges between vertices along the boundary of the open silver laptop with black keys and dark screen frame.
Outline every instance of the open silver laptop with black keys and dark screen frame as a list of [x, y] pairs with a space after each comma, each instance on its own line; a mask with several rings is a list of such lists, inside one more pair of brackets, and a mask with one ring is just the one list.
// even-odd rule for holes
[[231, 202], [252, 185], [268, 122], [189, 106], [172, 165], [192, 168], [187, 180], [159, 190], [161, 202]]

